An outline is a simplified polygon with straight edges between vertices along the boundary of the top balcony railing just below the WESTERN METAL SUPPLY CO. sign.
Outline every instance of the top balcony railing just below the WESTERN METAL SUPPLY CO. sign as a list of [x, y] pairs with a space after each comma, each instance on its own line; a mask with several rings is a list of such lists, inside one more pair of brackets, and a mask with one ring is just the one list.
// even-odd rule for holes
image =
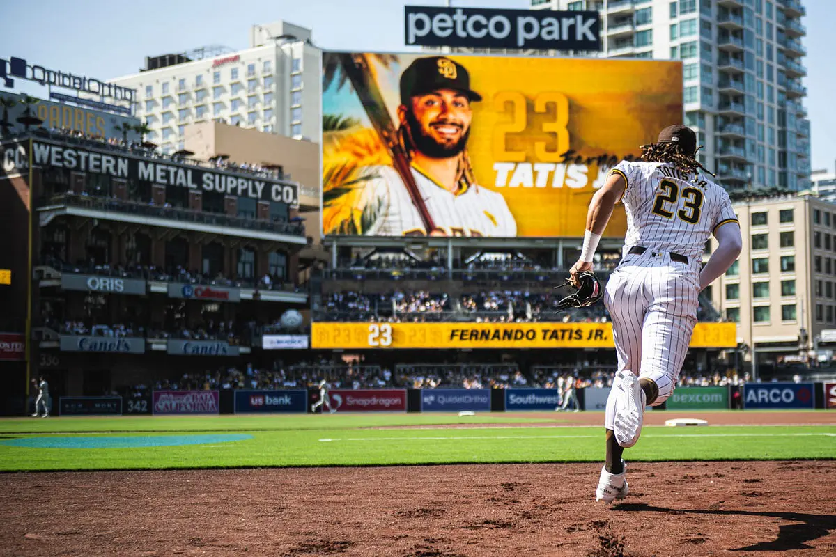
[[304, 226], [299, 223], [247, 219], [239, 216], [223, 215], [221, 213], [208, 213], [177, 207], [149, 205], [147, 203], [119, 200], [111, 197], [94, 197], [92, 195], [79, 195], [68, 192], [65, 194], [54, 195], [46, 200], [43, 200], [43, 202], [46, 206], [42, 205], [39, 207], [40, 210], [47, 209], [49, 206], [68, 205], [86, 210], [150, 216], [201, 225], [229, 226], [246, 230], [276, 232], [288, 235], [305, 235]]

